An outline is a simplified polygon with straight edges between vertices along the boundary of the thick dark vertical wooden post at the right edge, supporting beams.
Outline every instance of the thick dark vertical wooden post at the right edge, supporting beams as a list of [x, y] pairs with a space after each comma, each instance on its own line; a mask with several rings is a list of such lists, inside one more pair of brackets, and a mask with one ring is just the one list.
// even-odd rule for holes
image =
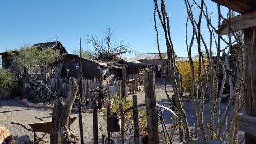
[[[254, 30], [256, 30], [256, 27], [247, 28], [244, 30], [245, 49], [247, 50], [247, 55], [245, 55], [247, 57], [247, 61], [245, 61], [247, 65], [245, 68], [244, 97], [246, 115], [256, 117], [256, 37], [253, 36]], [[245, 143], [254, 143], [255, 141], [255, 136], [245, 133]]]

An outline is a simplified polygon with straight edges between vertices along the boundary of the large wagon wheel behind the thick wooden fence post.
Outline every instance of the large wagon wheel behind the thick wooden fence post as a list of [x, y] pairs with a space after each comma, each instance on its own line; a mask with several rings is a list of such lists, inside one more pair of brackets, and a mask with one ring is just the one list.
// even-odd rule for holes
[[[147, 118], [146, 118], [145, 103], [138, 105], [139, 117], [139, 140], [147, 140]], [[177, 137], [177, 115], [169, 108], [156, 104], [156, 113], [158, 113], [158, 134], [159, 143], [171, 143], [170, 141]], [[127, 108], [124, 111], [124, 141], [125, 143], [134, 143], [134, 125], [133, 125], [133, 107]], [[163, 120], [161, 123], [161, 119]], [[164, 127], [164, 129], [163, 129]], [[116, 136], [116, 137], [115, 137]], [[113, 135], [113, 139], [121, 141], [120, 135]]]

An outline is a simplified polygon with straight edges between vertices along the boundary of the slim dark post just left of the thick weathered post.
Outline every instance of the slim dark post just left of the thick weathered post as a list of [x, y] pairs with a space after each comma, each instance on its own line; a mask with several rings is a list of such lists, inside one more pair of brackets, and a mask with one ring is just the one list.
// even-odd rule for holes
[[132, 97], [133, 104], [133, 126], [134, 126], [134, 143], [139, 144], [139, 117], [138, 117], [138, 105], [137, 105], [137, 95]]

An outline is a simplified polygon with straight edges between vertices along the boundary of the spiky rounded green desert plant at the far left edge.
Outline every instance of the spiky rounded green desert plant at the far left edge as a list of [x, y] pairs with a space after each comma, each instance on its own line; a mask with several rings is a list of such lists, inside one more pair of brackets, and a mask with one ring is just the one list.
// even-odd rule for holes
[[0, 99], [10, 98], [15, 87], [15, 76], [4, 69], [0, 69]]

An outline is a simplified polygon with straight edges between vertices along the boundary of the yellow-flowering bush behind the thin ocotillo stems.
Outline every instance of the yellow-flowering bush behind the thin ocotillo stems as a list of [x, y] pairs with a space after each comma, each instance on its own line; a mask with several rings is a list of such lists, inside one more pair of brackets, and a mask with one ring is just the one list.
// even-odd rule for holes
[[[195, 79], [196, 82], [198, 83], [198, 67], [199, 67], [199, 62], [198, 60], [193, 61], [193, 65], [194, 65], [194, 73], [195, 73]], [[205, 64], [207, 66], [207, 61], [205, 61]], [[176, 62], [176, 65], [179, 69], [179, 73], [182, 75], [182, 87], [183, 90], [185, 92], [190, 92], [190, 86], [191, 86], [191, 77], [192, 77], [192, 72], [191, 72], [191, 68], [190, 68], [190, 64], [187, 61], [182, 61], [182, 62]], [[207, 68], [206, 68], [207, 69]], [[201, 66], [201, 78], [202, 78], [202, 83], [205, 83], [206, 80], [206, 76], [204, 74], [204, 70], [203, 70], [203, 65]]]

